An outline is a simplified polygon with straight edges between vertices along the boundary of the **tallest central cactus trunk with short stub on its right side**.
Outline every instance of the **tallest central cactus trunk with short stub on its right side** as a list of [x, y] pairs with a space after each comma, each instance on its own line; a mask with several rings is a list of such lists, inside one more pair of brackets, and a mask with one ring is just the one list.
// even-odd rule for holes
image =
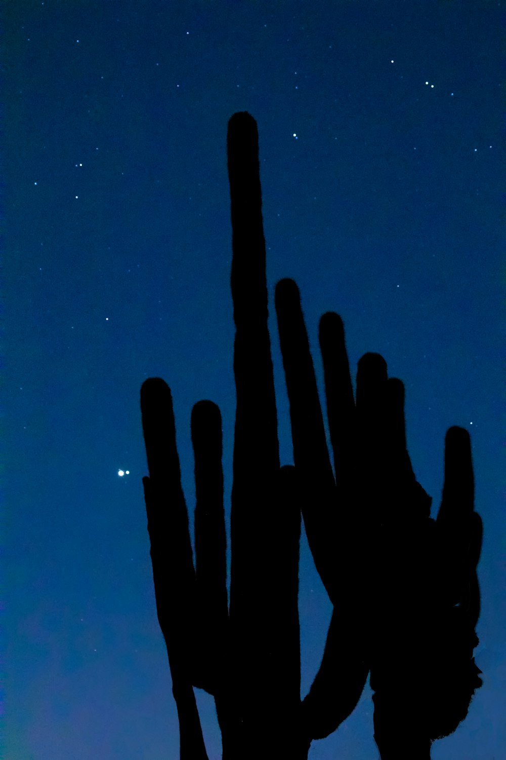
[[[231, 117], [227, 145], [236, 327], [230, 590], [236, 756], [294, 756], [300, 516], [290, 496], [294, 473], [279, 466], [258, 133], [249, 114]], [[227, 753], [234, 755], [224, 745], [224, 760]]]

